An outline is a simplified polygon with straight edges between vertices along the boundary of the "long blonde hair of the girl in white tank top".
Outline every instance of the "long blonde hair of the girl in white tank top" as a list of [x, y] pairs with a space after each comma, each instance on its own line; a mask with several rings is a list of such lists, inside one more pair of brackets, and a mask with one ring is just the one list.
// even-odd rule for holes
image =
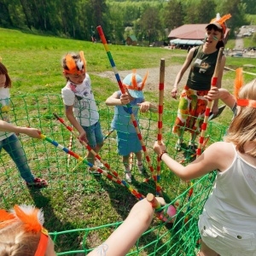
[[[256, 79], [242, 86], [238, 97], [256, 100]], [[239, 152], [256, 157], [256, 108], [240, 107], [230, 125], [225, 142], [234, 143]], [[244, 149], [247, 142], [253, 142], [254, 145], [248, 152]]]

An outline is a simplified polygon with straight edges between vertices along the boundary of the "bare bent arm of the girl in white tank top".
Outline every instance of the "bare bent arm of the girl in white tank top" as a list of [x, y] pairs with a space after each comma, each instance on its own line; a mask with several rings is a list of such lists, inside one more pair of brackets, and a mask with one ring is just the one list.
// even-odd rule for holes
[[[154, 152], [156, 154], [160, 154], [160, 152], [164, 150], [166, 150], [165, 145], [158, 145], [157, 142], [154, 143]], [[188, 166], [182, 166], [168, 154], [162, 154], [161, 160], [163, 160], [166, 163], [166, 166], [168, 166], [178, 177], [187, 181], [201, 177], [214, 170], [224, 172], [228, 166], [231, 165], [234, 156], [235, 153], [232, 149], [232, 145], [230, 143], [220, 142], [213, 143], [200, 157]]]

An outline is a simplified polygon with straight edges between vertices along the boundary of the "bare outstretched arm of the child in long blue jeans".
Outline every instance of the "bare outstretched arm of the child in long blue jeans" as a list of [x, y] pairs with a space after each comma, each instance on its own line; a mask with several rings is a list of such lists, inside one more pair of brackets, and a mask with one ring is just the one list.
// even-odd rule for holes
[[41, 138], [40, 137], [41, 131], [38, 129], [12, 125], [3, 120], [0, 120], [0, 131], [24, 133], [30, 137]]

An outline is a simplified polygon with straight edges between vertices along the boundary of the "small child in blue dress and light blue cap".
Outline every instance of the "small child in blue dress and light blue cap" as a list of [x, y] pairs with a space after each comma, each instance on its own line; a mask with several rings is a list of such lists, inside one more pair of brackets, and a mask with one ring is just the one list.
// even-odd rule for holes
[[[128, 112], [126, 104], [130, 103], [131, 107], [139, 107], [142, 113], [148, 110], [157, 112], [157, 108], [150, 102], [145, 102], [143, 96], [143, 87], [145, 85], [147, 75], [142, 79], [136, 71], [130, 73], [123, 80], [125, 94], [120, 90], [115, 91], [112, 96], [108, 97], [106, 104], [114, 107], [114, 116], [112, 121], [112, 129], [117, 131], [118, 153], [123, 156], [125, 166], [125, 178], [131, 183], [131, 170], [129, 166], [129, 155], [134, 152], [137, 157], [137, 167], [139, 172], [143, 172], [143, 154], [142, 145], [137, 137], [137, 131], [131, 121], [131, 115]], [[132, 108], [135, 119], [137, 120], [138, 108]], [[138, 125], [138, 124], [137, 124]]]

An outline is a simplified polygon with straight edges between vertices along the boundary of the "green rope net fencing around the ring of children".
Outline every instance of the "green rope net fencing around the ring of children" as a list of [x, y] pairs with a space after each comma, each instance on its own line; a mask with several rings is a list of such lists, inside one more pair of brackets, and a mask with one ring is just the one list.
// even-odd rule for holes
[[[122, 157], [117, 154], [116, 131], [111, 131], [113, 107], [104, 102], [96, 102], [105, 141], [99, 155], [102, 160], [118, 173], [120, 180], [125, 179]], [[10, 116], [15, 125], [31, 126], [42, 131], [44, 136], [69, 148], [82, 158], [87, 149], [79, 143], [64, 125], [55, 119], [53, 113], [65, 119], [60, 95], [28, 95], [11, 98]], [[129, 114], [129, 113], [127, 113]], [[162, 137], [168, 154], [187, 165], [195, 158], [195, 152], [187, 148], [177, 152], [177, 135], [172, 134], [172, 125], [177, 113], [164, 110]], [[148, 151], [154, 171], [157, 157], [153, 145], [157, 139], [157, 113], [139, 114], [140, 131]], [[210, 122], [206, 137], [208, 143], [221, 141], [225, 133], [222, 125]], [[189, 142], [189, 133], [183, 135], [184, 143]], [[71, 143], [72, 142], [72, 143]], [[137, 169], [135, 154], [131, 157], [131, 188], [108, 179], [96, 177], [88, 172], [88, 166], [74, 157], [56, 148], [46, 140], [32, 139], [20, 135], [20, 143], [25, 150], [28, 165], [35, 177], [42, 177], [49, 183], [46, 189], [27, 189], [20, 177], [15, 163], [4, 150], [0, 154], [0, 207], [10, 208], [15, 204], [34, 204], [44, 208], [45, 227], [55, 241], [58, 255], [85, 255], [100, 245], [128, 215], [137, 198], [131, 191], [141, 195], [155, 195], [156, 186], [147, 160], [143, 157], [146, 172]], [[72, 145], [71, 145], [72, 144]], [[108, 172], [108, 169], [104, 169]], [[108, 172], [109, 173], [109, 172]], [[110, 172], [111, 174], [111, 172]], [[195, 255], [199, 248], [200, 234], [197, 229], [198, 216], [211, 192], [215, 172], [196, 179], [194, 183], [183, 182], [168, 168], [161, 164], [160, 188], [166, 200], [165, 211], [169, 205], [177, 209], [173, 223], [165, 224], [154, 218], [149, 229], [140, 237], [127, 255]], [[193, 195], [189, 198], [189, 189], [193, 186]], [[102, 201], [104, 203], [102, 203]], [[106, 204], [105, 204], [106, 202]], [[188, 220], [185, 221], [186, 216]], [[102, 223], [102, 218], [106, 219]], [[111, 223], [111, 224], [109, 224]], [[82, 254], [80, 254], [82, 253]]]

